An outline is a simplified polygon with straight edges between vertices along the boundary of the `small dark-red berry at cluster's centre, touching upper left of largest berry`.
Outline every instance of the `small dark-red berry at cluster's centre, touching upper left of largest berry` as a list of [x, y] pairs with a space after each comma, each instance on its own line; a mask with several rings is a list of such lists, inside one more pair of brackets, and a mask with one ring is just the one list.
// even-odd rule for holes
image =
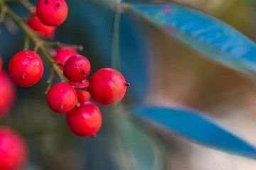
[[90, 62], [82, 55], [73, 55], [65, 62], [63, 74], [70, 81], [80, 82], [90, 74]]

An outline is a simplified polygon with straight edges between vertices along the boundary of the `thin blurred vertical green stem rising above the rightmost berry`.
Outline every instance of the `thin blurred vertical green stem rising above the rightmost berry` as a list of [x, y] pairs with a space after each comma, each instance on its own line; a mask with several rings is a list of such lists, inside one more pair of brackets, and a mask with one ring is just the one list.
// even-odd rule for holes
[[112, 67], [117, 70], [119, 69], [119, 26], [121, 11], [121, 2], [118, 1], [115, 6], [112, 28]]

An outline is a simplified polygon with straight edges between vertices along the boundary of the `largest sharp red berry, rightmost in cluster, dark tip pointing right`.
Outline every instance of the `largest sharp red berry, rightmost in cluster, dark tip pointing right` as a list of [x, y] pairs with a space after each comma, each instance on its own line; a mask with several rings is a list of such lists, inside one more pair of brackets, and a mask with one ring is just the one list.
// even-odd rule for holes
[[92, 75], [89, 93], [92, 99], [101, 105], [110, 105], [121, 101], [127, 89], [124, 77], [115, 69], [99, 69]]

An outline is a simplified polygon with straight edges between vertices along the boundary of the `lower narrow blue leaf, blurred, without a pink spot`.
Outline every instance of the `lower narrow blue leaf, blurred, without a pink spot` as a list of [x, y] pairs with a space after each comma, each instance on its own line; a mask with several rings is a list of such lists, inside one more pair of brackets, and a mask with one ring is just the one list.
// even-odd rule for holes
[[216, 149], [256, 159], [256, 148], [215, 123], [214, 120], [183, 108], [133, 108], [135, 115], [178, 133], [183, 137]]

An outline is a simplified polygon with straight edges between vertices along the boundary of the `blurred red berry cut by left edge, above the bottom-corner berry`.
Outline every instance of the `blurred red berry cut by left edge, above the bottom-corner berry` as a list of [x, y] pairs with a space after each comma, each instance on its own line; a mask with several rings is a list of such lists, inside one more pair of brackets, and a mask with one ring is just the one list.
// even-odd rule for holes
[[6, 72], [0, 72], [0, 120], [8, 113], [16, 99], [16, 89]]

